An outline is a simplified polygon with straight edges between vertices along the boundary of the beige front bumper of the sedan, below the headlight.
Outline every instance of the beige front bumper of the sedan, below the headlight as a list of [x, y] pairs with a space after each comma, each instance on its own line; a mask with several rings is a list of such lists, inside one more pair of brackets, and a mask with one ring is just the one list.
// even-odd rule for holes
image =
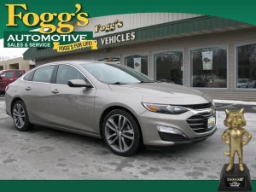
[[[168, 147], [172, 145], [196, 143], [201, 140], [211, 137], [215, 131], [217, 131], [217, 125], [211, 129], [207, 129], [207, 125], [204, 126], [204, 130], [197, 131], [196, 128], [191, 128], [193, 125], [189, 125], [189, 119], [193, 117], [197, 118], [204, 113], [198, 113], [198, 111], [191, 110], [187, 113], [179, 115], [170, 115], [163, 113], [153, 113], [145, 111], [139, 115], [139, 121], [143, 132], [143, 143], [146, 146], [160, 146]], [[213, 112], [209, 113], [209, 117], [215, 116], [217, 123], [216, 109], [213, 108]], [[195, 119], [194, 118], [194, 119]], [[207, 118], [205, 118], [207, 121]], [[191, 122], [191, 121], [190, 121]], [[163, 126], [166, 129], [160, 130], [157, 127]], [[168, 127], [171, 129], [177, 129], [183, 134], [173, 133], [172, 130], [168, 131]]]

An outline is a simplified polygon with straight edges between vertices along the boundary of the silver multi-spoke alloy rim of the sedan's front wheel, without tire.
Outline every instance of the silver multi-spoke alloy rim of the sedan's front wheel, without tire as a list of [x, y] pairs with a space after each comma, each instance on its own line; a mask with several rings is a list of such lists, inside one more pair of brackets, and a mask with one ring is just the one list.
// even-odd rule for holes
[[128, 151], [134, 141], [133, 127], [125, 116], [115, 114], [110, 117], [105, 127], [108, 144], [116, 151]]

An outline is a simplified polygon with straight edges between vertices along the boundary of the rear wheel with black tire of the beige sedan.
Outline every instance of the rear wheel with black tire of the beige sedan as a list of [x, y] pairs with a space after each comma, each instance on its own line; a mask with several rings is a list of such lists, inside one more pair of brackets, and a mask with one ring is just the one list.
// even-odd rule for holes
[[18, 131], [31, 131], [34, 127], [28, 119], [26, 105], [22, 101], [15, 102], [12, 108], [12, 116], [15, 124], [15, 128]]

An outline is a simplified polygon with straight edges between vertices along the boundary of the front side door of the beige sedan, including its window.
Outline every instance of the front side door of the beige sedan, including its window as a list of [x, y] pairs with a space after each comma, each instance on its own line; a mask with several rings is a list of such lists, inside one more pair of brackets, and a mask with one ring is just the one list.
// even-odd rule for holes
[[50, 89], [51, 124], [67, 129], [95, 133], [94, 100], [96, 89], [69, 87], [67, 82], [72, 79], [83, 79], [87, 84], [90, 84], [79, 69], [64, 64], [58, 67], [55, 84], [52, 84]]

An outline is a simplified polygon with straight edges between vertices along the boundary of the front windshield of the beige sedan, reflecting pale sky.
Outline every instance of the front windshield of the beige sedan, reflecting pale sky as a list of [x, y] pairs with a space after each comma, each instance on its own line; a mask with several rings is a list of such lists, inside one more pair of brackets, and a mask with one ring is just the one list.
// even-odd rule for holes
[[81, 64], [81, 66], [105, 84], [154, 83], [154, 79], [137, 72], [131, 67], [107, 63]]

